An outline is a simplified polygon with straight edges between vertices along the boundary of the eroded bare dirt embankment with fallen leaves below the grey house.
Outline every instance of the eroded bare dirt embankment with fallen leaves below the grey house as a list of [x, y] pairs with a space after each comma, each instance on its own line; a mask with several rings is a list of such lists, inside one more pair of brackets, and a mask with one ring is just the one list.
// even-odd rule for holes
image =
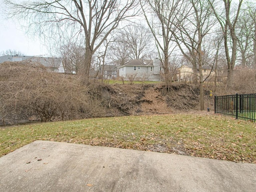
[[[189, 84], [105, 85], [102, 98], [108, 100], [110, 116], [168, 114], [199, 109], [199, 87]], [[118, 115], [118, 114], [116, 114]]]

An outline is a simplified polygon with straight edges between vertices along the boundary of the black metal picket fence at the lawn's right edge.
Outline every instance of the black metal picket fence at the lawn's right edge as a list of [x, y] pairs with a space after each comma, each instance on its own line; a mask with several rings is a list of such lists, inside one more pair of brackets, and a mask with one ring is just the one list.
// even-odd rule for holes
[[256, 94], [215, 96], [214, 112], [255, 122]]

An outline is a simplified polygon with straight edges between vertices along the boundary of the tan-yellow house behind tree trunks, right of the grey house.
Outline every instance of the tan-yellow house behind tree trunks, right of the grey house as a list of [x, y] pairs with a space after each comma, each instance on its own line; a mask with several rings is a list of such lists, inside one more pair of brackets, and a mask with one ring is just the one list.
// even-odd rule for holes
[[[211, 78], [214, 75], [214, 71], [212, 70], [212, 67], [209, 65], [203, 65], [202, 66], [202, 74], [203, 78], [206, 78], [209, 76]], [[197, 75], [199, 75], [199, 68], [197, 67]], [[180, 68], [178, 68], [178, 73], [176, 74], [178, 81], [192, 81], [193, 79], [193, 65], [182, 65]]]

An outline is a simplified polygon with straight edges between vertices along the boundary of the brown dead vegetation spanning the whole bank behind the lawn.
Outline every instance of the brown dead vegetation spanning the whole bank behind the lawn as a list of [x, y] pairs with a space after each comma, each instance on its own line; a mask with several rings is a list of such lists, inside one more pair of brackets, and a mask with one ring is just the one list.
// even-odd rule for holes
[[[218, 84], [213, 95], [255, 92], [255, 71], [241, 70], [234, 76], [233, 90]], [[213, 85], [204, 87], [205, 106], [214, 110]], [[239, 90], [239, 91], [237, 91]], [[166, 84], [81, 83], [79, 75], [48, 72], [37, 63], [0, 64], [0, 121], [74, 120], [142, 114], [170, 114], [199, 110], [199, 86]]]

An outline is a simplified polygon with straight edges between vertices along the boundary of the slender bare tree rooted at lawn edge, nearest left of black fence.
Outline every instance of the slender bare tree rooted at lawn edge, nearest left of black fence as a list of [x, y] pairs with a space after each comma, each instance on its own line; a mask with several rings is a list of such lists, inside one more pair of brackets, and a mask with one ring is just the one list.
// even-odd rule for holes
[[[186, 14], [185, 11], [182, 12], [178, 25], [173, 23], [176, 26], [175, 30], [172, 30], [172, 27], [170, 31], [182, 54], [191, 61], [194, 77], [199, 70], [200, 109], [204, 110], [203, 83], [207, 77], [203, 77], [202, 66], [205, 64], [204, 56], [207, 52], [203, 49], [203, 43], [216, 22], [211, 17], [212, 11], [207, 0], [189, 0], [183, 8], [186, 9]], [[188, 55], [185, 50], [190, 54]]]

